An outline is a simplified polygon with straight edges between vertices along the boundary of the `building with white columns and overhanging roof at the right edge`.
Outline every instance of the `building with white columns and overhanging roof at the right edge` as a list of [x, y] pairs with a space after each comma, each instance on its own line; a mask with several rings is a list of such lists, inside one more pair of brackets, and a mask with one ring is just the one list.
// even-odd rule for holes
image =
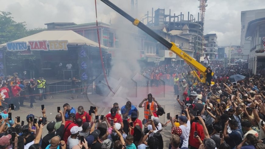
[[250, 21], [245, 37], [250, 41], [249, 69], [259, 73], [265, 68], [265, 17]]

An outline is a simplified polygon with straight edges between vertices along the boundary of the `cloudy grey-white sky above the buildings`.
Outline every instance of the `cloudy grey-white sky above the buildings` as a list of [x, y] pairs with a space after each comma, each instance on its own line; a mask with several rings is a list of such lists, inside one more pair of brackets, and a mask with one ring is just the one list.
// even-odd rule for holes
[[[135, 0], [136, 1], [136, 0]], [[219, 46], [240, 45], [241, 11], [264, 9], [264, 0], [208, 0], [205, 12], [204, 34], [217, 34]], [[166, 14], [200, 12], [197, 0], [138, 0], [138, 11], [131, 11], [131, 0], [111, 0], [134, 18], [141, 18], [155, 9], [165, 9]], [[94, 0], [0, 0], [0, 11], [12, 13], [16, 22], [26, 22], [28, 29], [46, 28], [44, 23], [74, 22], [91, 23], [96, 20]], [[118, 13], [97, 0], [98, 21], [115, 21]], [[265, 16], [264, 16], [265, 17]], [[127, 21], [126, 19], [122, 21]], [[121, 23], [122, 23], [121, 21]]]

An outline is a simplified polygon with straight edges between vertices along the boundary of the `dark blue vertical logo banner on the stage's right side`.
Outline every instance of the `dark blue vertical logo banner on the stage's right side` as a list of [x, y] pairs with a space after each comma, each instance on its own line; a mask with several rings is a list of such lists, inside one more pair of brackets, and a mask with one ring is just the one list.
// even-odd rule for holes
[[89, 57], [88, 48], [80, 49], [78, 54], [79, 62], [79, 76], [81, 81], [87, 81], [89, 79]]

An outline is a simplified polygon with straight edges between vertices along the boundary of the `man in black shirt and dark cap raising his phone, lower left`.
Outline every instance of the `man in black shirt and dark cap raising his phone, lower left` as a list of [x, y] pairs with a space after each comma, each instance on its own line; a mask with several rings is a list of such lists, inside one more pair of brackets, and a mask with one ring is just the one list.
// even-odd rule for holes
[[[59, 112], [63, 115], [61, 110]], [[62, 116], [62, 125], [57, 130], [54, 129], [54, 126], [55, 126], [55, 121], [51, 121], [50, 123], [47, 124], [48, 134], [42, 138], [41, 148], [46, 148], [50, 144], [49, 140], [51, 140], [51, 138], [55, 136], [63, 138], [64, 126], [65, 126], [64, 116]]]

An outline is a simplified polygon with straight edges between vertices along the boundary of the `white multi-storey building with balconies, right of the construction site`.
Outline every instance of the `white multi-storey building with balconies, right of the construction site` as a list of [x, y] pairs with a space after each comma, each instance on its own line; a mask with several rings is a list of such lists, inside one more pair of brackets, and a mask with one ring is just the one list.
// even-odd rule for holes
[[203, 50], [204, 50], [204, 53], [209, 54], [210, 60], [218, 59], [217, 34], [204, 35]]

